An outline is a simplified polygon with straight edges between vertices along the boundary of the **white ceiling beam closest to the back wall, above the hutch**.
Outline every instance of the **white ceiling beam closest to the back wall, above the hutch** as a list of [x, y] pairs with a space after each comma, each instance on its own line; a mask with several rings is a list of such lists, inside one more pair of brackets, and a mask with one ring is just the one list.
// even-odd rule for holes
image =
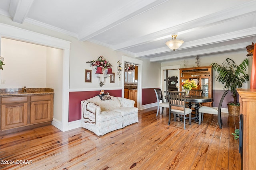
[[233, 51], [233, 50], [244, 50], [244, 48], [250, 44], [250, 42], [246, 43], [239, 43], [239, 44], [234, 44], [234, 45], [226, 45], [222, 47], [215, 47], [215, 48], [210, 48], [210, 49], [202, 49], [202, 50], [197, 50], [197, 51], [189, 51], [185, 53], [179, 53], [175, 55], [166, 55], [162, 57], [154, 57], [150, 59], [150, 62], [156, 62], [156, 61], [166, 61], [170, 59], [179, 59], [179, 58], [185, 58], [185, 57], [192, 57], [196, 55], [208, 55], [212, 53], [220, 53], [220, 52], [225, 52], [225, 51]]

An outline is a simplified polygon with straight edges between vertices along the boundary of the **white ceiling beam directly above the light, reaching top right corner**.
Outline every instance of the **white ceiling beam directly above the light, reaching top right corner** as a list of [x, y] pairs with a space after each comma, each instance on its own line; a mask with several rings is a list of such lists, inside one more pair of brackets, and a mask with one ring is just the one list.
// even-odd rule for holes
[[255, 9], [256, 1], [244, 3], [242, 5], [229, 8], [228, 10], [222, 10], [208, 16], [204, 16], [192, 21], [188, 21], [186, 23], [182, 23], [180, 25], [176, 25], [174, 27], [144, 35], [142, 37], [138, 37], [130, 41], [120, 43], [118, 45], [114, 45], [113, 50], [117, 51], [130, 47], [135, 47], [137, 45], [158, 41], [159, 39], [165, 39], [166, 37], [170, 37], [171, 33], [177, 33], [178, 35], [180, 35], [182, 33], [194, 31], [195, 29], [202, 29], [211, 25], [216, 25], [218, 23], [222, 23], [223, 21], [234, 20], [244, 16], [256, 14]]

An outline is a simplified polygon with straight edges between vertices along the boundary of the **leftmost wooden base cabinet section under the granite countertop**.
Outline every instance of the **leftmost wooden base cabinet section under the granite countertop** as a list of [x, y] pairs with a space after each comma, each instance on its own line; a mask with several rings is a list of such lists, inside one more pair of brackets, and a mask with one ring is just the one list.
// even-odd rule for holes
[[27, 125], [28, 97], [6, 97], [1, 100], [1, 130]]

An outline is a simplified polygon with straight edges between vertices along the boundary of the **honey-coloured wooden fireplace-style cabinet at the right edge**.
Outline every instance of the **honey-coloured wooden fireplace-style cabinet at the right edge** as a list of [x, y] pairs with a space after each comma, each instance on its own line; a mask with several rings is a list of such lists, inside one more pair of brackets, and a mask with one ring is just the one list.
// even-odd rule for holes
[[[240, 115], [243, 115], [242, 143], [242, 170], [256, 168], [256, 89], [237, 89], [240, 102]], [[240, 122], [241, 123], [241, 122]]]

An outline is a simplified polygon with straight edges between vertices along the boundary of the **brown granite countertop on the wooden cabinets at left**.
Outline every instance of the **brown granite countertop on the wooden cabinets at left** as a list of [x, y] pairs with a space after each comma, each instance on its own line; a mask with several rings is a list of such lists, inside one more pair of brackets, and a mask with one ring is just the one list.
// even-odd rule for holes
[[54, 94], [52, 88], [27, 88], [23, 92], [23, 88], [1, 88], [0, 96], [24, 96], [24, 95], [38, 95], [38, 94]]

